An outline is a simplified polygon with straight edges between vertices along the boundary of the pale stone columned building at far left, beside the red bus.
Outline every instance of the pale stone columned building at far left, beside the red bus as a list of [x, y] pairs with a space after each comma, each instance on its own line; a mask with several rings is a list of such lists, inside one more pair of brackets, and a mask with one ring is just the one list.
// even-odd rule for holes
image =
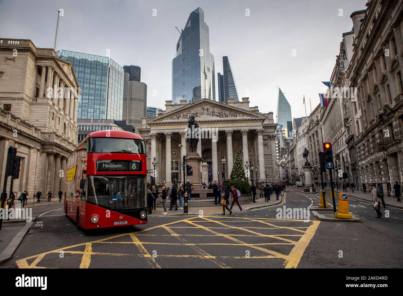
[[[31, 40], [0, 38], [0, 154], [17, 148], [18, 196], [28, 190], [56, 196], [62, 188], [67, 156], [77, 147], [77, 103], [80, 89], [73, 67], [51, 48]], [[0, 161], [3, 188], [6, 157]], [[8, 178], [7, 192], [9, 191]]]

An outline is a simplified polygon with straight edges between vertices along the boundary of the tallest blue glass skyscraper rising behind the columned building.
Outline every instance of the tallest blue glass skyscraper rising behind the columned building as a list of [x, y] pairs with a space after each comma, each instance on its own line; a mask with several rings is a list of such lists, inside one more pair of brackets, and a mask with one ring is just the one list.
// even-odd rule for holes
[[202, 8], [191, 12], [176, 49], [172, 60], [173, 103], [204, 98], [215, 101], [214, 56], [210, 53], [209, 29]]

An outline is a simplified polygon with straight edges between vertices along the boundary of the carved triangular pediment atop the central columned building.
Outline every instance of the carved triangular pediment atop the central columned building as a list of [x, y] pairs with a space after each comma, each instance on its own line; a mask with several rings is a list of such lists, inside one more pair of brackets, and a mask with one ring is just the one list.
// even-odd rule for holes
[[194, 116], [196, 120], [216, 120], [216, 119], [266, 119], [266, 116], [244, 110], [242, 108], [230, 106], [226, 103], [202, 99], [195, 103], [187, 104], [170, 112], [150, 118], [147, 123], [187, 121], [189, 116]]

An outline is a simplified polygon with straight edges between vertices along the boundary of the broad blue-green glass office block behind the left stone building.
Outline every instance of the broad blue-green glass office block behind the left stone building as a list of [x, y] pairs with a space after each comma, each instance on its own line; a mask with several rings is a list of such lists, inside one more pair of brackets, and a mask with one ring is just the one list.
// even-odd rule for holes
[[81, 88], [77, 119], [122, 120], [123, 68], [105, 56], [67, 50], [57, 54], [73, 64]]

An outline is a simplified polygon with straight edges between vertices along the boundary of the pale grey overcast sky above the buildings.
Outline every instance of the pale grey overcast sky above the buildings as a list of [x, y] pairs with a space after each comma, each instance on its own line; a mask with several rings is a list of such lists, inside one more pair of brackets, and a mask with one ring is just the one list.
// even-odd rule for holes
[[[326, 91], [342, 33], [351, 31], [351, 12], [367, 0], [0, 0], [0, 37], [31, 39], [52, 48], [57, 11], [62, 8], [57, 49], [110, 57], [141, 67], [147, 106], [164, 109], [172, 99], [172, 58], [179, 33], [197, 7], [210, 28], [210, 52], [222, 73], [228, 56], [240, 97], [276, 116], [278, 87], [293, 117], [305, 116]], [[153, 16], [156, 9], [156, 16]], [[249, 10], [250, 16], [245, 15]], [[342, 11], [341, 11], [342, 10]], [[339, 16], [342, 14], [342, 16]], [[293, 56], [293, 50], [296, 56]], [[156, 93], [156, 96], [153, 96]]]

